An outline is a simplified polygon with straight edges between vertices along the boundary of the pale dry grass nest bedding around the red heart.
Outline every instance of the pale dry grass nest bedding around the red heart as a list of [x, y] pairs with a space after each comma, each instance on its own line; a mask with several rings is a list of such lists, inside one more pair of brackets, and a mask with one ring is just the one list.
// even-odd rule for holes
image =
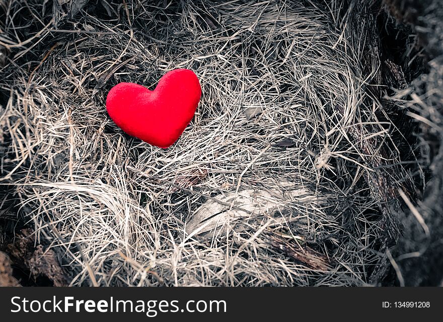
[[[409, 124], [382, 100], [377, 6], [108, 3], [9, 0], [0, 12], [4, 203], [59, 254], [70, 285], [380, 283], [398, 189], [411, 196], [422, 172]], [[179, 141], [163, 150], [123, 134], [109, 89], [152, 89], [176, 68], [202, 85]], [[185, 234], [217, 195], [285, 181], [330, 201], [286, 199], [240, 230]]]

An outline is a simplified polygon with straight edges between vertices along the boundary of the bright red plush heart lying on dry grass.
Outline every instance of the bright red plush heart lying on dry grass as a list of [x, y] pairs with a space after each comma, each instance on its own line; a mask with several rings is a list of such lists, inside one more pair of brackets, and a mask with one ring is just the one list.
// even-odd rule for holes
[[194, 116], [201, 87], [194, 72], [166, 73], [151, 91], [141, 85], [120, 83], [106, 98], [106, 109], [125, 133], [160, 148], [180, 137]]

